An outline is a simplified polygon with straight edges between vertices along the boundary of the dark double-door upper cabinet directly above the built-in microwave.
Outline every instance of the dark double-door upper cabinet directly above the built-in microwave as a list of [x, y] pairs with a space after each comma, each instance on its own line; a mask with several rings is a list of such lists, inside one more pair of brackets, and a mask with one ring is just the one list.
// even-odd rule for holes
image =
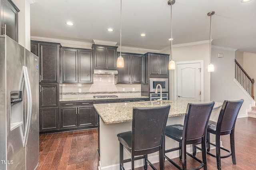
[[168, 78], [168, 62], [169, 55], [168, 54], [160, 54], [160, 53], [146, 53], [145, 55], [145, 63], [146, 63], [146, 81], [148, 83], [148, 79], [152, 78]]

